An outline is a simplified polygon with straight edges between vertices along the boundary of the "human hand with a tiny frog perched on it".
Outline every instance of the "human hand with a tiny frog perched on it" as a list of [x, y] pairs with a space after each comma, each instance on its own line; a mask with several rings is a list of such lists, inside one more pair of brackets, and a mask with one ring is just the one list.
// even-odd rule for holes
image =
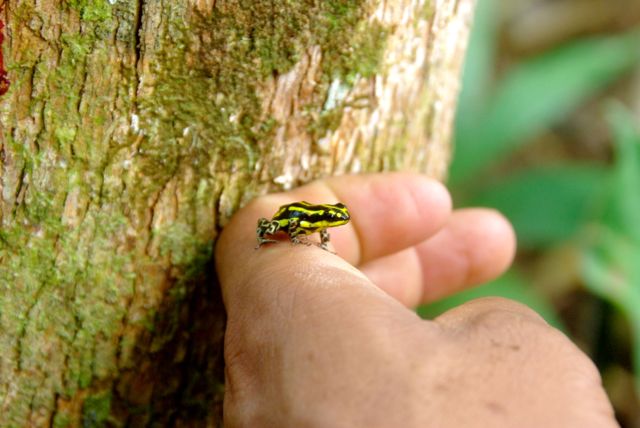
[[[286, 236], [255, 249], [283, 204], [343, 202], [336, 254]], [[509, 223], [451, 210], [414, 174], [344, 176], [258, 198], [223, 230], [225, 427], [612, 427], [593, 363], [519, 303], [485, 298], [434, 320], [410, 308], [502, 273]]]

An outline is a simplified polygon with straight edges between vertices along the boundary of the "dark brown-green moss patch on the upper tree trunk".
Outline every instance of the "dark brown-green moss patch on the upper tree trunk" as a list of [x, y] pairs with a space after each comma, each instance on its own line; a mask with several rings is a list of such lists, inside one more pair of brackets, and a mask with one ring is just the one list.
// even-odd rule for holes
[[[320, 93], [334, 78], [352, 84], [373, 75], [387, 32], [364, 21], [370, 7], [365, 0], [228, 0], [202, 15], [172, 6], [189, 19], [167, 20], [152, 60], [155, 78], [138, 100], [140, 129], [149, 136], [141, 146], [145, 175], [162, 183], [180, 163], [197, 169], [216, 155], [251, 170], [276, 125], [263, 117], [258, 85], [289, 71], [316, 45], [323, 50]], [[310, 108], [323, 102], [319, 96]], [[326, 129], [328, 122], [310, 127]]]

